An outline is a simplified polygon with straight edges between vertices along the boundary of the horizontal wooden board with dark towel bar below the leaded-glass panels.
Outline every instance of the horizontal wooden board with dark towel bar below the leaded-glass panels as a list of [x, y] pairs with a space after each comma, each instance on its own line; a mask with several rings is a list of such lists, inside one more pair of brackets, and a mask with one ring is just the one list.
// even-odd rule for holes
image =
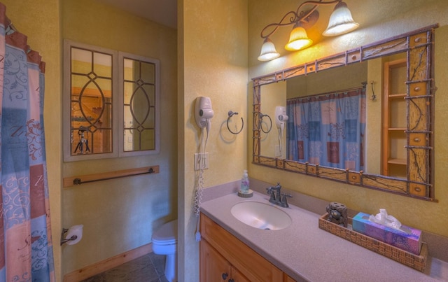
[[[158, 173], [159, 173], [159, 166], [155, 165], [152, 167], [140, 167], [137, 169], [109, 171], [109, 172], [104, 172], [102, 174], [70, 176], [70, 177], [64, 178], [63, 186], [64, 186], [64, 188], [66, 188], [66, 187], [71, 187], [76, 184], [82, 184], [85, 182], [102, 181], [102, 180], [109, 180], [109, 179], [121, 178], [121, 177], [127, 177], [127, 176], [137, 176], [137, 175], [141, 175], [141, 174], [158, 174]], [[76, 181], [79, 181], [79, 183], [75, 183]]]

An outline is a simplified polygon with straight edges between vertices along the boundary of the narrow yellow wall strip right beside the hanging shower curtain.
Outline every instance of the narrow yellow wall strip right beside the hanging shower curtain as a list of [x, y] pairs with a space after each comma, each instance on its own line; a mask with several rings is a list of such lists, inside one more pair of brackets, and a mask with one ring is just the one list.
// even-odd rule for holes
[[1, 1], [6, 6], [6, 15], [22, 34], [28, 36], [28, 45], [43, 57], [45, 62], [45, 100], [43, 118], [47, 150], [48, 189], [50, 192], [50, 216], [55, 257], [55, 275], [61, 281], [61, 248], [58, 244], [61, 234], [61, 166], [62, 128], [60, 122], [62, 104], [61, 52], [59, 41], [59, 0]]

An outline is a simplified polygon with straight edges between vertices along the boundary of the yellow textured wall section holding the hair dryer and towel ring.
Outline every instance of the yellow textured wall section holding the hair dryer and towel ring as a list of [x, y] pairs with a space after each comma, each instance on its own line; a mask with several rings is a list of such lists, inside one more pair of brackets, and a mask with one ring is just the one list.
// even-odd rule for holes
[[178, 5], [179, 85], [183, 85], [179, 88], [179, 114], [183, 113], [179, 119], [179, 218], [185, 223], [179, 230], [179, 277], [199, 281], [193, 155], [198, 152], [200, 129], [193, 105], [196, 97], [210, 97], [215, 112], [206, 148], [209, 169], [204, 171], [204, 186], [241, 178], [247, 164], [247, 131], [233, 135], [225, 122], [229, 110], [237, 111], [237, 118], [245, 121], [248, 117], [247, 1], [183, 0]]

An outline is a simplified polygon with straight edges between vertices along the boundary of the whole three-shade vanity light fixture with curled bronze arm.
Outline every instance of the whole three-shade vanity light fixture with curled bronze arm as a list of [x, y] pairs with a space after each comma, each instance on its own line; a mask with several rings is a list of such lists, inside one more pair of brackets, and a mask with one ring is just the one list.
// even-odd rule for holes
[[[311, 4], [314, 5], [311, 10], [300, 11], [303, 6]], [[260, 56], [258, 56], [258, 60], [270, 61], [271, 59], [275, 59], [280, 56], [279, 52], [276, 52], [274, 43], [272, 43], [272, 41], [269, 39], [269, 36], [274, 34], [274, 32], [277, 31], [279, 27], [293, 25], [293, 31], [291, 31], [290, 33], [289, 41], [285, 45], [286, 50], [296, 51], [309, 47], [309, 45], [311, 45], [313, 41], [308, 38], [306, 29], [313, 26], [319, 18], [319, 13], [316, 8], [318, 6], [326, 6], [332, 4], [336, 4], [336, 6], [332, 14], [330, 15], [327, 29], [323, 31], [323, 36], [337, 36], [346, 34], [359, 27], [359, 24], [353, 21], [353, 17], [351, 16], [349, 8], [347, 8], [346, 3], [344, 3], [342, 0], [305, 1], [300, 4], [299, 8], [297, 8], [295, 12], [290, 11], [286, 13], [286, 15], [281, 18], [280, 22], [267, 24], [267, 26], [262, 29], [260, 36], [264, 39], [264, 41], [261, 47]]]

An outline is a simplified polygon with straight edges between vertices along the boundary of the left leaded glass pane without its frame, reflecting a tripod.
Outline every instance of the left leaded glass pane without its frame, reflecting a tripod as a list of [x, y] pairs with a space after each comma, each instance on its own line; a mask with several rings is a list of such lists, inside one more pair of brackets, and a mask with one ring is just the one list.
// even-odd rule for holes
[[71, 155], [112, 152], [112, 56], [71, 48]]

